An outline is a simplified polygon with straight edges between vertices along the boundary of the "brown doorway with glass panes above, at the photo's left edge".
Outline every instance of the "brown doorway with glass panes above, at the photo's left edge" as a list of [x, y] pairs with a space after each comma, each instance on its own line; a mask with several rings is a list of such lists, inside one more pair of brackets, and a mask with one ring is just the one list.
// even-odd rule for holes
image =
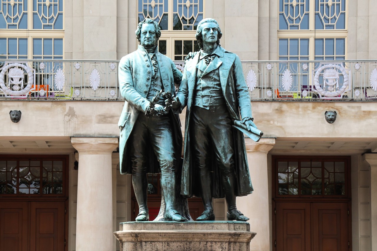
[[0, 156], [0, 251], [66, 250], [65, 156]]

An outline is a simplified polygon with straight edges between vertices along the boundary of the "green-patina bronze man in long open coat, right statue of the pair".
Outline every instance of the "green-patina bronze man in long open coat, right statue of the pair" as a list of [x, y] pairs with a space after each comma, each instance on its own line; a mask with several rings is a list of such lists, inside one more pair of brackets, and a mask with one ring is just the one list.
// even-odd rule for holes
[[241, 61], [220, 46], [221, 36], [216, 20], [199, 22], [196, 39], [201, 50], [186, 61], [172, 101], [180, 112], [187, 107], [181, 194], [202, 197], [204, 212], [197, 220], [214, 220], [212, 198], [225, 197], [228, 220], [246, 221], [249, 218], [237, 210], [236, 196], [250, 194], [253, 186], [244, 135], [234, 123], [248, 131], [256, 126]]

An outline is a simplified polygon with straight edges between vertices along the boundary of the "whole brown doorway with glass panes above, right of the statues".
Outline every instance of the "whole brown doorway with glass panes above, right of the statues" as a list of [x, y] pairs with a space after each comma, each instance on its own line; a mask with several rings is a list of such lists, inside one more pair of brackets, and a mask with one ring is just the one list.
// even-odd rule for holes
[[273, 250], [350, 250], [350, 158], [273, 156]]

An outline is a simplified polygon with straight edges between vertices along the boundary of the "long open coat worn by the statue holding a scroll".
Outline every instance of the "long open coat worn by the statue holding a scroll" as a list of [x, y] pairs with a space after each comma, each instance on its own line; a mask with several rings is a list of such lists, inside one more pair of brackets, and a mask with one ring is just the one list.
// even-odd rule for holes
[[[203, 75], [212, 70], [219, 68], [220, 83], [222, 93], [225, 98], [225, 103], [228, 112], [232, 119], [252, 118], [251, 103], [248, 89], [245, 83], [244, 73], [242, 71], [241, 60], [236, 54], [226, 51], [220, 47], [221, 55], [208, 64], [203, 64], [204, 60], [199, 61], [200, 53], [195, 57], [186, 61], [181, 86], [179, 87], [177, 96], [182, 103], [181, 108], [187, 106], [186, 121], [185, 121], [185, 137], [184, 137], [184, 160], [182, 167], [181, 178], [181, 194], [187, 197], [200, 196], [199, 177], [195, 171], [195, 163], [192, 156], [190, 145], [190, 120], [191, 110], [193, 107], [193, 100], [195, 98], [195, 84], [197, 69], [201, 69]], [[234, 171], [236, 173], [238, 187], [234, 188], [237, 196], [250, 194], [253, 191], [253, 185], [250, 180], [250, 173], [248, 169], [245, 139], [242, 132], [233, 128], [234, 138]], [[215, 153], [211, 156], [212, 167], [212, 197], [224, 197], [221, 186], [221, 174], [219, 168], [216, 166]]]

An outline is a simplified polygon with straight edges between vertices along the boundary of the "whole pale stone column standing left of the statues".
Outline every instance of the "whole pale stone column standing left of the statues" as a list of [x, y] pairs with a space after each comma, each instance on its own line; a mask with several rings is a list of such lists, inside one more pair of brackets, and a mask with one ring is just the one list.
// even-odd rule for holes
[[118, 138], [72, 137], [78, 151], [76, 250], [113, 245], [112, 159]]

